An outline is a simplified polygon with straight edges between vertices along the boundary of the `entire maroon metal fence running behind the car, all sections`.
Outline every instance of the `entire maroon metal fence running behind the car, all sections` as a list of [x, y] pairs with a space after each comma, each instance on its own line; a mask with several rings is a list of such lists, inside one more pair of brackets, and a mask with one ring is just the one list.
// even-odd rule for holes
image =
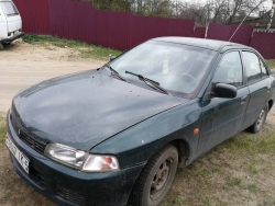
[[[186, 36], [229, 41], [238, 25], [210, 23], [196, 27], [194, 20], [139, 16], [127, 12], [94, 10], [90, 2], [74, 0], [13, 0], [23, 21], [23, 31], [79, 39], [121, 50], [148, 38]], [[257, 49], [275, 59], [275, 33], [254, 32], [241, 26], [231, 42]]]

